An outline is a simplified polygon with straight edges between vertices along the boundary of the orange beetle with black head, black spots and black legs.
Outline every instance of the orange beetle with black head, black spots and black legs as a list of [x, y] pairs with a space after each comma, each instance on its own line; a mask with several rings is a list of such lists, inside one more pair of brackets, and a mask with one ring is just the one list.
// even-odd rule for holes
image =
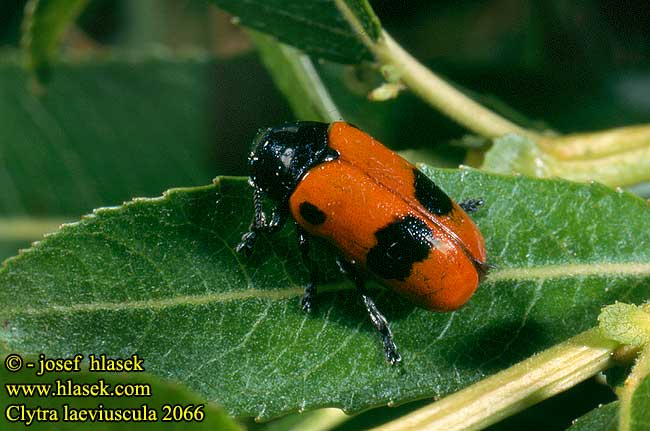
[[[316, 301], [313, 236], [338, 250], [379, 331], [386, 360], [401, 357], [388, 322], [365, 289], [374, 276], [415, 304], [451, 311], [465, 304], [486, 274], [483, 236], [467, 213], [481, 199], [454, 202], [414, 165], [346, 122], [299, 121], [262, 129], [248, 160], [254, 217], [237, 252], [249, 255], [260, 233], [275, 233], [291, 215], [310, 273], [301, 304]], [[273, 204], [263, 210], [266, 197]]]

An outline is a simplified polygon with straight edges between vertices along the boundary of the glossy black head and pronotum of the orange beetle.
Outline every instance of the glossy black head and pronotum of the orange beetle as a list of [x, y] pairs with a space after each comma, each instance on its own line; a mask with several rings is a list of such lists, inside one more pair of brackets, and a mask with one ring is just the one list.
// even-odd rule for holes
[[329, 124], [297, 121], [260, 130], [248, 159], [250, 183], [277, 202], [285, 202], [314, 166], [338, 154], [327, 145]]

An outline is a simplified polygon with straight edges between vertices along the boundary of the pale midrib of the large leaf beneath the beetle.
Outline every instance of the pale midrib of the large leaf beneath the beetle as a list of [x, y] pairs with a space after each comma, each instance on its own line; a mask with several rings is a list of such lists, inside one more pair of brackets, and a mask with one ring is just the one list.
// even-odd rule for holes
[[[562, 278], [588, 276], [643, 276], [650, 275], [650, 262], [627, 263], [589, 263], [571, 265], [544, 265], [537, 267], [507, 268], [491, 272], [482, 283], [495, 284], [502, 281], [546, 281]], [[335, 292], [352, 289], [346, 282], [329, 283], [319, 286], [320, 292]], [[200, 306], [212, 303], [224, 303], [246, 299], [282, 300], [303, 294], [302, 287], [284, 289], [245, 289], [218, 292], [203, 295], [179, 295], [170, 298], [156, 298], [122, 302], [91, 302], [71, 305], [48, 305], [38, 308], [12, 308], [2, 315], [5, 318], [19, 315], [67, 314], [76, 312], [125, 311], [125, 310], [161, 310], [181, 306]]]

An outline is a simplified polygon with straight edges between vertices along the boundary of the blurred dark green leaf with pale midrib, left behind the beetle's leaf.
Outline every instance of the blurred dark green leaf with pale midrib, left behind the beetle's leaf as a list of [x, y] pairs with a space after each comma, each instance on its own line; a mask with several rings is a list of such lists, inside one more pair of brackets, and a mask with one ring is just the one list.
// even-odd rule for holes
[[215, 66], [165, 55], [64, 60], [37, 96], [17, 61], [0, 61], [0, 260], [92, 208], [209, 181]]

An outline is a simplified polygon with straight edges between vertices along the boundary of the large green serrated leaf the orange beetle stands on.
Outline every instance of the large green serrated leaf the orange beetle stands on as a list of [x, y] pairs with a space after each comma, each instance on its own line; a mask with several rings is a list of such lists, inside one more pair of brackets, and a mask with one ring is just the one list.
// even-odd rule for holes
[[[463, 309], [431, 313], [373, 290], [403, 356], [388, 366], [353, 286], [323, 266], [320, 309], [293, 229], [233, 252], [244, 179], [98, 210], [0, 271], [0, 341], [28, 353], [138, 352], [236, 416], [355, 412], [439, 397], [577, 334], [603, 305], [650, 297], [650, 209], [602, 185], [423, 167], [475, 220], [495, 270]], [[325, 257], [325, 250], [321, 257]]]

